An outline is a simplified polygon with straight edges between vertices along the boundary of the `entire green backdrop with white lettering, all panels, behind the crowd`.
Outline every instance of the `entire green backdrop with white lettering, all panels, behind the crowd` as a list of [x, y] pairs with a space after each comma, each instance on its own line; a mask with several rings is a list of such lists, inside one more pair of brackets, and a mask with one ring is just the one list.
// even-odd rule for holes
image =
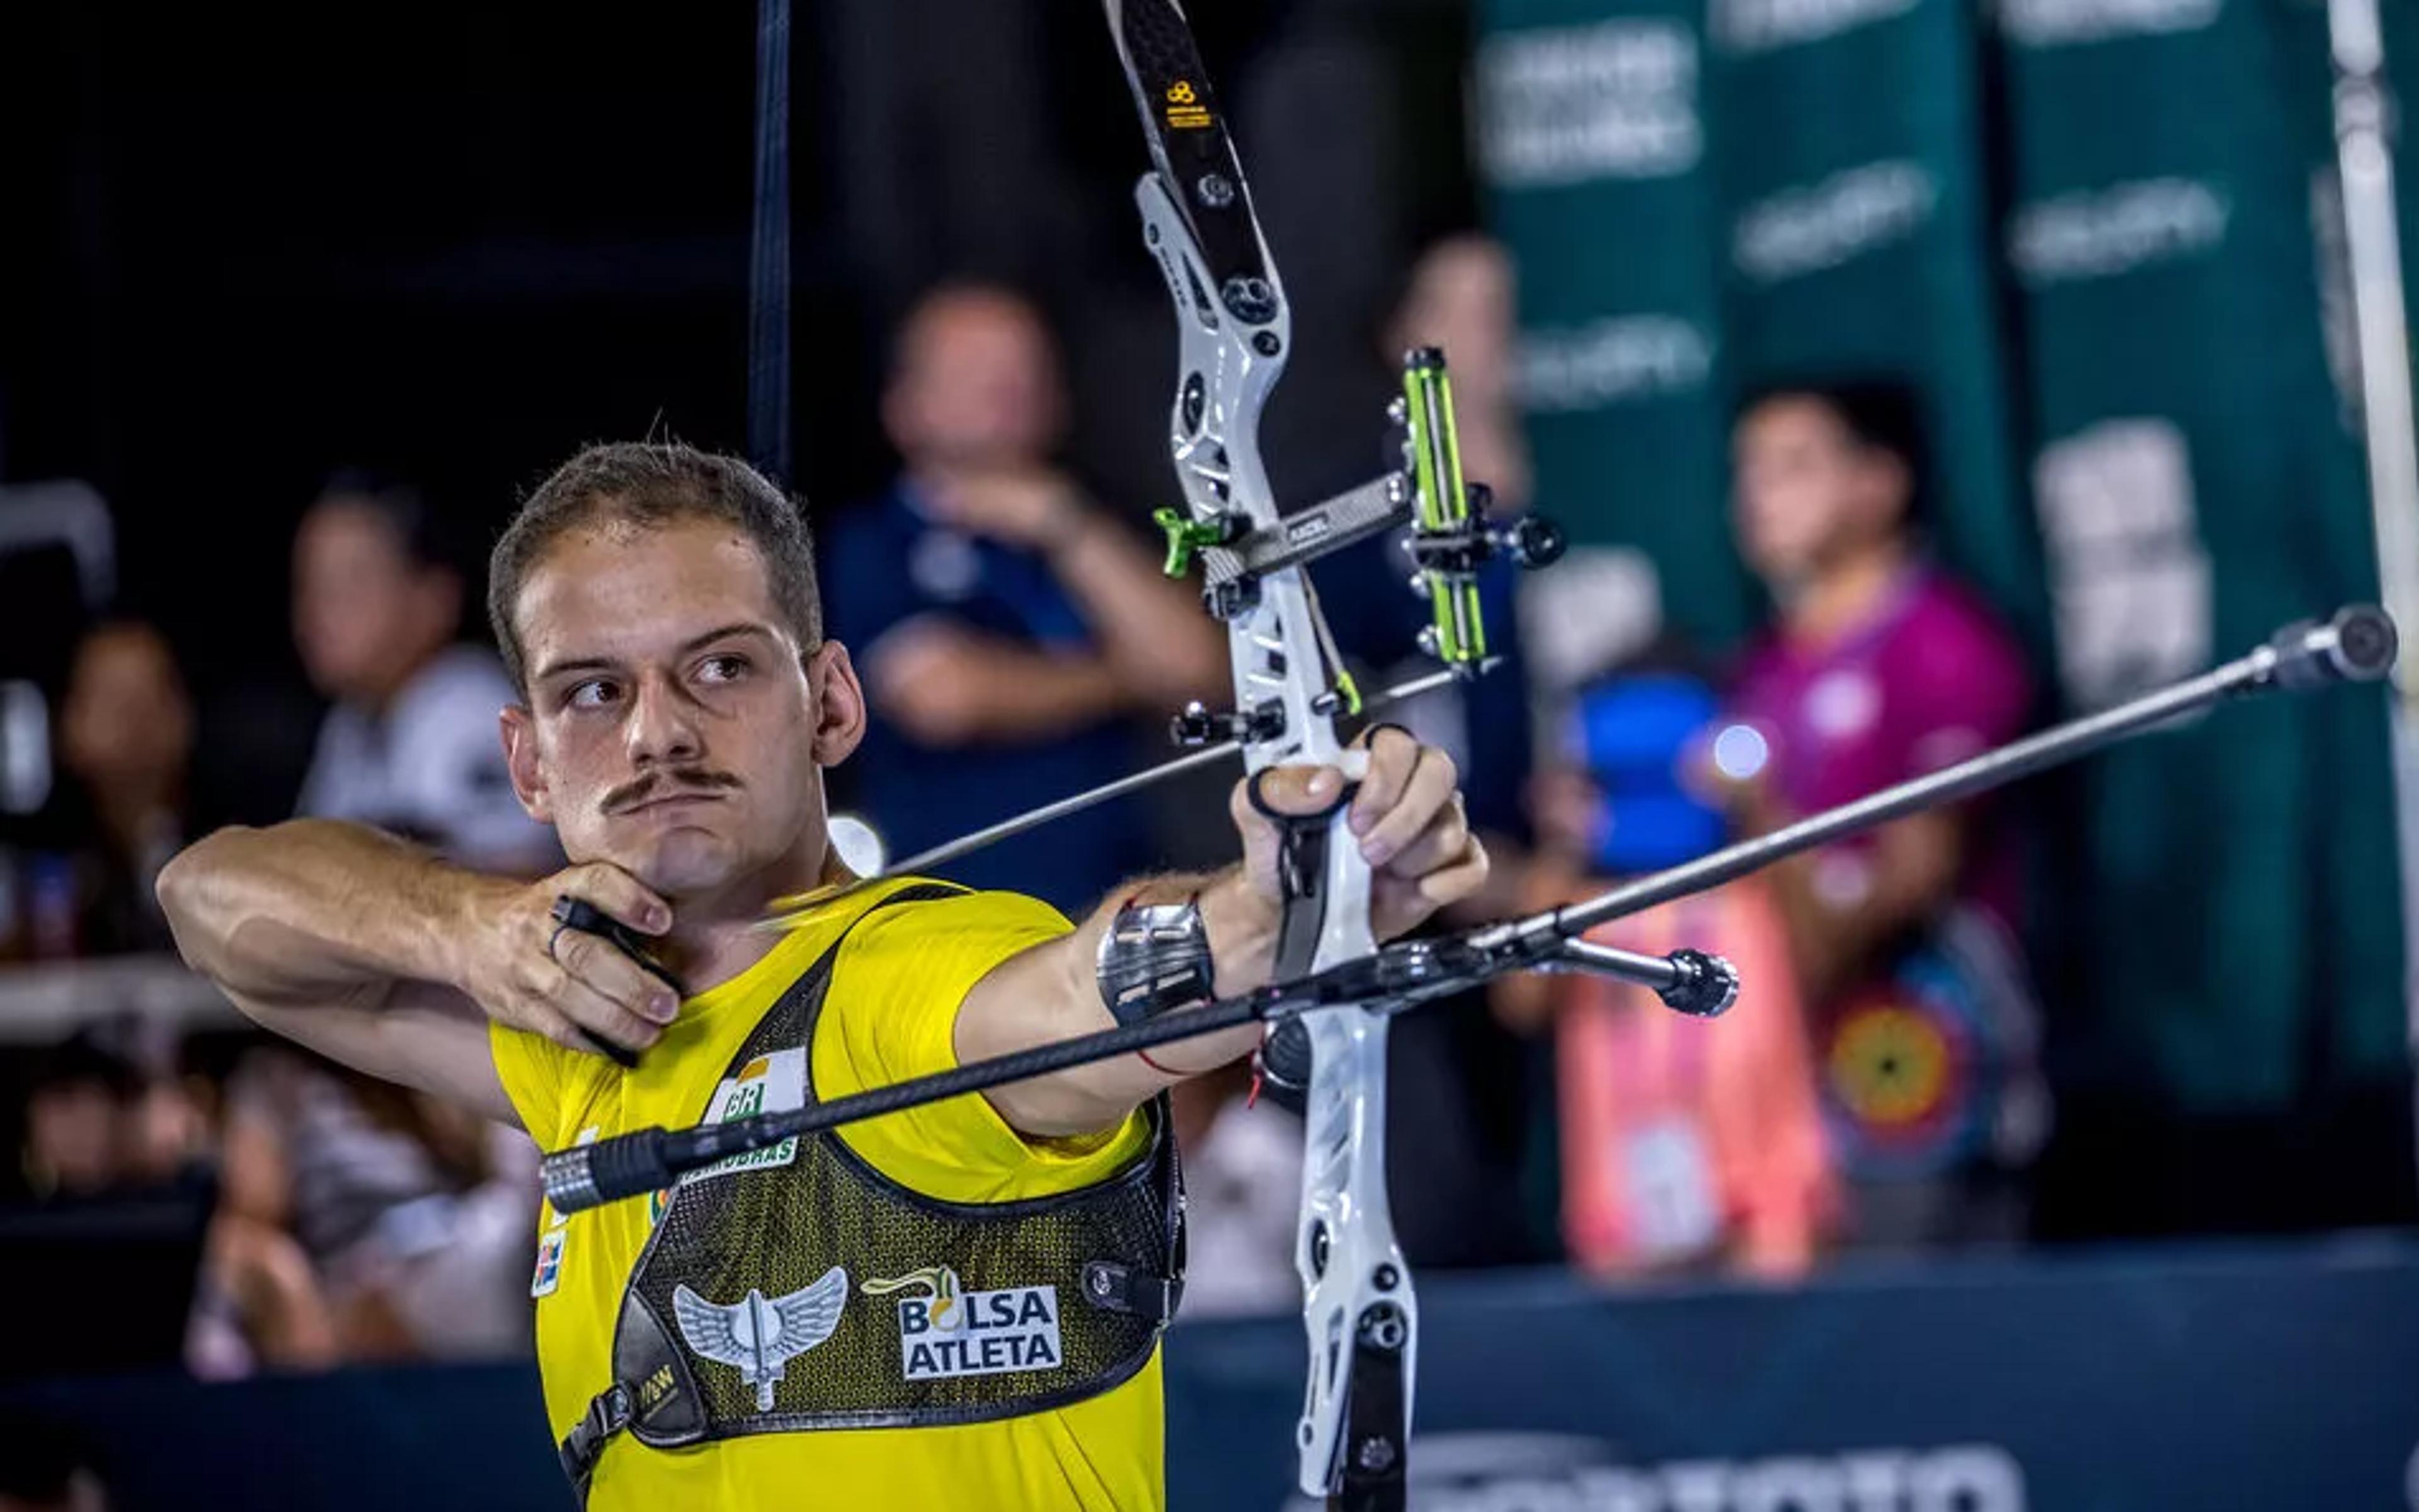
[[[1988, 17], [1988, 19], [1984, 19]], [[2375, 595], [2300, 0], [1490, 0], [1480, 160], [1543, 508], [1732, 634], [1725, 421], [1923, 387], [1930, 527], [2068, 711]], [[1988, 87], [1984, 85], [1988, 80]], [[2404, 1064], [2383, 704], [2092, 762], [2054, 1031], [2206, 1110]]]

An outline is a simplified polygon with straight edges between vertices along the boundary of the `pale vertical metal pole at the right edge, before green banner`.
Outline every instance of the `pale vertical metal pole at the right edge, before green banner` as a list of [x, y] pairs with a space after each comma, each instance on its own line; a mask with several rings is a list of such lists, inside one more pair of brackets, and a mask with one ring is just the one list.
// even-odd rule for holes
[[[2344, 177], [2344, 244], [2361, 334], [2361, 414], [2368, 506], [2378, 535], [2378, 588], [2400, 624], [2419, 627], [2419, 438], [2412, 431], [2412, 353], [2395, 220], [2392, 102], [2378, 0], [2329, 0], [2334, 148]], [[2412, 1050], [2419, 1055], [2419, 656], [2395, 668], [2395, 815], [2402, 856], [2402, 970]]]

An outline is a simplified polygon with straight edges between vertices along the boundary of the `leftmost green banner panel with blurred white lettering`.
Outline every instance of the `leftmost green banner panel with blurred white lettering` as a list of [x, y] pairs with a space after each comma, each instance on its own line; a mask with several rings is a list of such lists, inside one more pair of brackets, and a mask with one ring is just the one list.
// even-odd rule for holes
[[1703, 7], [1500, 0], [1478, 46], [1478, 155], [1519, 259], [1519, 385], [1538, 506], [1635, 547], [1672, 629], [1727, 641], [1747, 581], [1720, 510], [1720, 198]]

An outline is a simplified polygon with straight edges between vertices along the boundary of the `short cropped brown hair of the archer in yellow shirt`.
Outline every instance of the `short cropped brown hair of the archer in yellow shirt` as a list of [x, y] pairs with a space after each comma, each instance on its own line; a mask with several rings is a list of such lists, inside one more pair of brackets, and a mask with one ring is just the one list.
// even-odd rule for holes
[[772, 602], [789, 619], [801, 648], [822, 641], [822, 598], [815, 593], [815, 542], [791, 498], [738, 457], [677, 440], [617, 440], [590, 445], [520, 501], [486, 564], [486, 617], [513, 687], [530, 692], [513, 607], [547, 549], [595, 520], [660, 527], [672, 520], [721, 520], [747, 532], [764, 559]]

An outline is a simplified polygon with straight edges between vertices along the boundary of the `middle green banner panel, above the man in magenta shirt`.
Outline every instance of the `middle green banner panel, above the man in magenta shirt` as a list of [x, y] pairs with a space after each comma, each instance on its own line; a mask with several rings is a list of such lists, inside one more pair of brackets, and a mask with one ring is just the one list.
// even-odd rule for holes
[[1715, 0], [1708, 22], [1734, 389], [1913, 382], [1933, 547], [2039, 631], [1993, 307], [1976, 7]]

